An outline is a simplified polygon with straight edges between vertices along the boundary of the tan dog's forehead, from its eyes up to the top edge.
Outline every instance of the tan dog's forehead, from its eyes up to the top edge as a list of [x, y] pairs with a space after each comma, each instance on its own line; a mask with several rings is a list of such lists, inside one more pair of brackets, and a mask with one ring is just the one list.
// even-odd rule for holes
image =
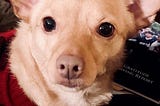
[[[124, 0], [46, 0], [40, 5], [34, 8], [33, 24], [51, 16], [55, 19], [57, 28], [63, 29], [63, 32], [64, 29], [70, 31], [72, 28], [95, 29], [102, 22], [125, 26], [124, 20], [127, 20]], [[37, 13], [40, 14], [39, 17]]]

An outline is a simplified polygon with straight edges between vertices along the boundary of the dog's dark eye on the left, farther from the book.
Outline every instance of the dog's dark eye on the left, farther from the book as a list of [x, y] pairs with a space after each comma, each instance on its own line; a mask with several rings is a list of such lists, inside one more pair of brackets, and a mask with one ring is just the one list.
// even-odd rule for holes
[[51, 32], [56, 29], [56, 22], [52, 17], [45, 17], [43, 19], [43, 27], [45, 31]]

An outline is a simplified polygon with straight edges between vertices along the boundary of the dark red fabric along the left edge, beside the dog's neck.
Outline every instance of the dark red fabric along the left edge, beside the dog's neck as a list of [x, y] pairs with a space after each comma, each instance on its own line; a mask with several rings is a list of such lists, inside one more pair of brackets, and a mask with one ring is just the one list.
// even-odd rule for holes
[[36, 106], [24, 94], [8, 67], [8, 45], [15, 30], [0, 33], [0, 106]]

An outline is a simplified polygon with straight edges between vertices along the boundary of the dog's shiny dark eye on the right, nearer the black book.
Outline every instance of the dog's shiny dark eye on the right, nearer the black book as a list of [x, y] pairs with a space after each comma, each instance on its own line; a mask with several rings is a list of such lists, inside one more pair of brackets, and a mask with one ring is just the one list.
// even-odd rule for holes
[[98, 33], [103, 37], [110, 37], [114, 32], [114, 26], [108, 22], [102, 23], [98, 28]]

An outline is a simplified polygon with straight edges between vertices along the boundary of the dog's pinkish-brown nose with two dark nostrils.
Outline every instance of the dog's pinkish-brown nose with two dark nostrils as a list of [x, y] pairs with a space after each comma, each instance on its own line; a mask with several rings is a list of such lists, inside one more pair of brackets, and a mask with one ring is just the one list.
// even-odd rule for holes
[[73, 55], [61, 55], [56, 63], [59, 74], [68, 80], [79, 78], [84, 68], [82, 58]]

